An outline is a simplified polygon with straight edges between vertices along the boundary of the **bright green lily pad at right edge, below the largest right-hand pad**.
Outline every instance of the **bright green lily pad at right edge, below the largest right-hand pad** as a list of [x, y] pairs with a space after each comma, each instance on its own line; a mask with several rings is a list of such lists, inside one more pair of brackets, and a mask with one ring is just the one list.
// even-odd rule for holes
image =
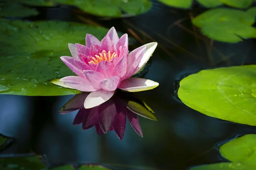
[[255, 144], [256, 134], [244, 135], [221, 145], [220, 153], [232, 162], [239, 162], [256, 169]]

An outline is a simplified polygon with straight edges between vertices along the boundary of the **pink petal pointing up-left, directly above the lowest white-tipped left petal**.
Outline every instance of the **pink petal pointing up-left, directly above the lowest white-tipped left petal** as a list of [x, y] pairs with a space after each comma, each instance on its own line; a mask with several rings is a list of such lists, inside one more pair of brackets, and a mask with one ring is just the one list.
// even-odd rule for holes
[[84, 70], [91, 70], [90, 66], [85, 64], [84, 62], [80, 61], [79, 59], [62, 56], [61, 60], [79, 77], [83, 77], [86, 79], [83, 71]]

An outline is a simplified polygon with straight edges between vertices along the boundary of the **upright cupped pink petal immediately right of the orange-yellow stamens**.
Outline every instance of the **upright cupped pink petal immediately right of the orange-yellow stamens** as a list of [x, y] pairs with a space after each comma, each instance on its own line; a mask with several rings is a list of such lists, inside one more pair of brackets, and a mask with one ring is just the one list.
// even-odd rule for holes
[[123, 57], [119, 59], [119, 61], [116, 63], [115, 67], [113, 68], [112, 75], [119, 76], [122, 81], [127, 71], [127, 64], [128, 64], [128, 56], [124, 54]]

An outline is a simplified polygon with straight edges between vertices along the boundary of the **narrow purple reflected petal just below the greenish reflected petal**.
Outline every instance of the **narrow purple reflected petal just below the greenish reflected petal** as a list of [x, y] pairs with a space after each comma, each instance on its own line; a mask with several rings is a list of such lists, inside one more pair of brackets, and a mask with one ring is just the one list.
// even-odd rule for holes
[[131, 124], [131, 127], [135, 130], [135, 132], [138, 135], [143, 137], [138, 115], [133, 113], [132, 111], [130, 111], [128, 108], [125, 108], [125, 113], [126, 113], [127, 118]]

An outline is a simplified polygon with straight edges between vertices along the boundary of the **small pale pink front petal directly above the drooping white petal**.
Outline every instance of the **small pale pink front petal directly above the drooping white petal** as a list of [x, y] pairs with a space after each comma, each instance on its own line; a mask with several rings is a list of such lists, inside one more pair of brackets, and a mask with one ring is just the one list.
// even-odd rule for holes
[[99, 87], [105, 91], [115, 91], [120, 84], [120, 77], [113, 76], [99, 82]]

